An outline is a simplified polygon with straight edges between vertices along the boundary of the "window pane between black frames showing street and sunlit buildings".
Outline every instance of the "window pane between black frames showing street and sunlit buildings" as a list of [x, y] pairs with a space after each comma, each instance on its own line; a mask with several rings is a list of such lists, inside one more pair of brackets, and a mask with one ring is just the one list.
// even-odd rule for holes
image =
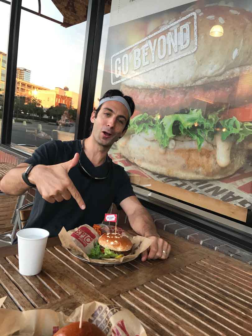
[[[38, 11], [37, 1], [22, 6]], [[41, 13], [62, 25], [21, 11], [11, 144], [29, 153], [52, 139], [74, 139], [86, 8], [70, 20], [61, 7], [41, 1]]]

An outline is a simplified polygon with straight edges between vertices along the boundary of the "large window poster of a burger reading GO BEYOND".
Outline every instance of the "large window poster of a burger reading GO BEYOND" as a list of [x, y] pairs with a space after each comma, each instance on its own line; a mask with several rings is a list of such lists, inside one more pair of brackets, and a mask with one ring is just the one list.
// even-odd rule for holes
[[101, 92], [136, 105], [113, 161], [252, 209], [252, 2], [113, 0], [110, 15]]

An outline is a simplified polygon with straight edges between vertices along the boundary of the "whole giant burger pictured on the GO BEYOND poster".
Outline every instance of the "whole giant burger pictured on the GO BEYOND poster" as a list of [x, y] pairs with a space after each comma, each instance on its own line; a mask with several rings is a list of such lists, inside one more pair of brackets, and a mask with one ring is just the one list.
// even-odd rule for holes
[[[195, 4], [173, 21], [192, 12], [197, 17], [196, 51], [122, 82], [121, 89], [133, 98], [137, 112], [117, 146], [127, 159], [154, 173], [180, 179], [220, 179], [245, 164], [251, 142], [251, 120], [240, 122], [228, 116], [227, 110], [244, 104], [239, 78], [252, 72], [252, 13], [230, 6]], [[164, 22], [152, 34], [171, 22]], [[185, 22], [190, 27], [187, 49], [193, 50], [194, 16], [181, 24]], [[214, 25], [223, 27], [222, 37], [210, 36]], [[179, 26], [150, 35], [152, 45], [175, 29], [179, 34]], [[130, 68], [136, 47], [130, 52]], [[145, 49], [145, 61], [154, 67], [161, 60], [157, 51], [153, 55], [149, 49]], [[163, 61], [185, 52], [179, 46], [177, 52], [171, 50]], [[143, 70], [141, 64], [137, 71]], [[217, 107], [221, 104], [227, 108]]]

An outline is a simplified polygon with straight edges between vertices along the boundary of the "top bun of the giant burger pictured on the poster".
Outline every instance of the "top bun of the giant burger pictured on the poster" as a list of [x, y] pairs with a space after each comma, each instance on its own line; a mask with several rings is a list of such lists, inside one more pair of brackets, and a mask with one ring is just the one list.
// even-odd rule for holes
[[[197, 50], [153, 70], [139, 74], [132, 79], [127, 79], [127, 81], [122, 84], [122, 89], [124, 89], [124, 91], [126, 91], [126, 87], [128, 87], [128, 89], [131, 88], [132, 92], [137, 89], [147, 88], [154, 89], [155, 91], [158, 89], [174, 89], [181, 87], [188, 88], [202, 84], [229, 80], [240, 76], [243, 72], [252, 70], [252, 52], [250, 45], [252, 35], [252, 13], [242, 8], [229, 6], [199, 7], [196, 4], [182, 11], [177, 17], [174, 17], [173, 20], [169, 19], [162, 25], [157, 26], [152, 32], [150, 32], [149, 36], [167, 27], [170, 23], [176, 22], [179, 18], [193, 12], [197, 14]], [[187, 23], [190, 26], [190, 44], [186, 48], [190, 50], [192, 49], [191, 46], [195, 44], [193, 27], [194, 17], [191, 16], [188, 19], [183, 20], [181, 25], [184, 23]], [[214, 38], [210, 36], [210, 30], [214, 25], [221, 25], [223, 27], [224, 33], [221, 38]], [[162, 35], [166, 36], [168, 32], [173, 33], [174, 30], [177, 29], [177, 33], [179, 34], [179, 26], [180, 23], [175, 26], [171, 26], [168, 31], [162, 31], [159, 34], [150, 37], [148, 40], [150, 40], [152, 45], [154, 45], [154, 40], [157, 39], [158, 44], [158, 38]], [[148, 52], [146, 55], [146, 61], [149, 61], [149, 64], [152, 67], [160, 64], [157, 44], [155, 48], [154, 61], [152, 59], [151, 52]], [[180, 50], [179, 45], [180, 38], [178, 38], [178, 51], [175, 52], [174, 49], [171, 48], [171, 54], [166, 52], [162, 61], [166, 61], [171, 59], [173, 56], [178, 57], [180, 54], [183, 54], [185, 49]], [[134, 67], [133, 54], [134, 49], [137, 47], [139, 48], [139, 46], [134, 47], [129, 55], [129, 59], [131, 59], [131, 63], [129, 65], [130, 69]], [[150, 49], [147, 51], [149, 50]], [[141, 72], [145, 69], [146, 66], [143, 66], [143, 62], [141, 62], [137, 72]], [[209, 86], [206, 91], [209, 91], [209, 89], [211, 90], [211, 86]], [[150, 93], [151, 92], [153, 91], [150, 91]], [[175, 92], [180, 93], [180, 90]], [[132, 93], [131, 96], [133, 97], [134, 102], [136, 102], [137, 108], [137, 102], [139, 99], [137, 99], [138, 94], [135, 93], [135, 95], [133, 95]], [[146, 108], [149, 107], [153, 98], [155, 97], [148, 96], [146, 92]], [[183, 98], [186, 98], [186, 95]], [[155, 109], [157, 109], [157, 107], [159, 108], [160, 105], [162, 109], [163, 102], [164, 101], [162, 100], [161, 103], [156, 104]], [[183, 105], [186, 106], [186, 101], [184, 101]], [[142, 104], [140, 107], [142, 108]], [[165, 106], [163, 109], [165, 110]]]

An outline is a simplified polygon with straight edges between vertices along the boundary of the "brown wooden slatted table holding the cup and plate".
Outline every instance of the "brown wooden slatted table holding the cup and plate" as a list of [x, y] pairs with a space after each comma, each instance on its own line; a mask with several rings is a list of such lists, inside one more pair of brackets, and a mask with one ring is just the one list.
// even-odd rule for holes
[[169, 259], [92, 266], [48, 240], [42, 271], [18, 273], [17, 246], [0, 249], [5, 308], [51, 308], [70, 314], [82, 302], [132, 311], [148, 335], [252, 335], [252, 268], [164, 231]]

